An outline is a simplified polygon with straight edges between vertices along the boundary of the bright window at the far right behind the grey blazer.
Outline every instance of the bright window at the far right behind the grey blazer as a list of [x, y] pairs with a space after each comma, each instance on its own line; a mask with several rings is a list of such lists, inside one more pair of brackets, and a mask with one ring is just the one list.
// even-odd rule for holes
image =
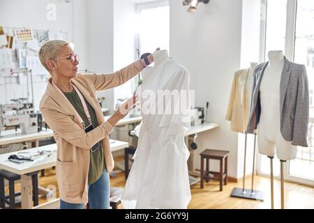
[[[308, 147], [298, 147], [297, 159], [290, 161], [289, 174], [314, 180], [314, 1], [298, 0], [294, 40], [294, 62], [306, 65], [310, 93]], [[307, 63], [307, 61], [310, 63]]]

